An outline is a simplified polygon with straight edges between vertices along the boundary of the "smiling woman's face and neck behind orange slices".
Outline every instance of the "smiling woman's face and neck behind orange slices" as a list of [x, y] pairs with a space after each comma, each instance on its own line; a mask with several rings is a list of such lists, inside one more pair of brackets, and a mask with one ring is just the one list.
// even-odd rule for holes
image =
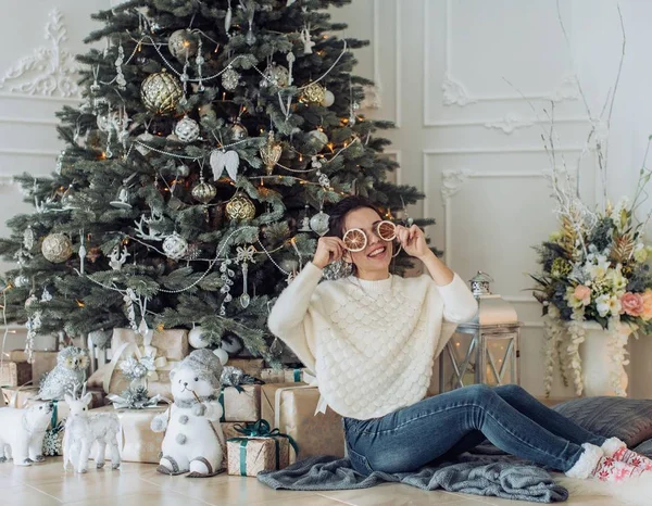
[[376, 235], [376, 225], [383, 218], [369, 207], [360, 207], [351, 211], [344, 217], [342, 236], [352, 228], [360, 228], [367, 237], [367, 245], [358, 252], [347, 252], [344, 261], [353, 262], [358, 269], [358, 277], [362, 279], [385, 279], [389, 275], [392, 243], [381, 240]]

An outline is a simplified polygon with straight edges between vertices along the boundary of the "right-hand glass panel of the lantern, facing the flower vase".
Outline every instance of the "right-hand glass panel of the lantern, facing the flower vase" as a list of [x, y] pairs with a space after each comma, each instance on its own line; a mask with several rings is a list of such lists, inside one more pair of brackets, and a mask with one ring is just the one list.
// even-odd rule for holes
[[517, 333], [485, 334], [485, 383], [518, 383]]

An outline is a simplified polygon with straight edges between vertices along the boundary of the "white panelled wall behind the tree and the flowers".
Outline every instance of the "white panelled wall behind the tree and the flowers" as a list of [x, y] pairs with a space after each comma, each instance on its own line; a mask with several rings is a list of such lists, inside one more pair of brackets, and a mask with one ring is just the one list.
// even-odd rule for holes
[[[59, 9], [60, 49], [84, 51], [82, 39], [97, 25], [89, 14], [116, 0], [5, 0], [0, 18], [0, 76], [39, 48], [49, 13]], [[543, 178], [549, 167], [539, 139], [540, 124], [519, 92], [540, 113], [555, 99], [559, 147], [574, 165], [586, 136], [586, 113], [569, 78], [579, 71], [587, 97], [599, 109], [613, 84], [620, 50], [612, 0], [560, 0], [568, 49], [555, 0], [354, 0], [335, 10], [347, 21], [346, 35], [369, 39], [359, 50], [358, 72], [379, 85], [377, 117], [399, 128], [389, 153], [402, 164], [399, 182], [423, 188], [427, 199], [413, 215], [434, 216], [428, 232], [447, 261], [465, 279], [478, 270], [496, 278], [493, 290], [516, 305], [525, 321], [522, 344], [524, 385], [542, 392], [540, 307], [524, 273], [536, 268], [530, 249], [554, 229], [552, 201]], [[649, 51], [652, 2], [622, 0], [627, 59], [612, 125], [610, 191], [631, 193], [647, 136], [652, 130], [652, 71]], [[41, 51], [42, 53], [42, 51]], [[48, 60], [48, 59], [47, 59]], [[54, 75], [60, 60], [48, 60]], [[42, 74], [42, 72], [40, 72]], [[30, 72], [17, 84], [34, 83]], [[505, 83], [507, 79], [519, 91]], [[28, 210], [10, 176], [54, 167], [60, 143], [54, 111], [74, 100], [51, 93], [0, 88], [0, 194], [3, 218]], [[582, 168], [582, 192], [592, 200], [594, 173]], [[648, 204], [650, 208], [652, 204]], [[2, 219], [4, 222], [4, 219]], [[0, 223], [0, 235], [7, 228]], [[0, 265], [2, 268], [2, 265]], [[13, 346], [10, 346], [13, 347]], [[643, 339], [632, 345], [632, 394], [652, 394], [650, 356]], [[555, 395], [570, 395], [557, 385]]]

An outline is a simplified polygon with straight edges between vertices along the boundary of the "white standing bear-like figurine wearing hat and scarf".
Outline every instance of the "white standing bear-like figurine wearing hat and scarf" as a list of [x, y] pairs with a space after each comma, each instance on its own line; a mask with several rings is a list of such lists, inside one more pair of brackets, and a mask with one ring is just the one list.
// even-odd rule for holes
[[174, 403], [151, 423], [165, 432], [158, 471], [204, 478], [222, 469], [224, 433], [218, 402], [222, 363], [210, 350], [196, 350], [170, 374]]

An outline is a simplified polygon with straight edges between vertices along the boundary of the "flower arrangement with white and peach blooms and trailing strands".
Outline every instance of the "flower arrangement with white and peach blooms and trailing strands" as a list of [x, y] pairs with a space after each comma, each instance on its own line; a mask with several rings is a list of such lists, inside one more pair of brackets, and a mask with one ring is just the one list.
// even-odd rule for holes
[[[636, 219], [644, 187], [652, 173], [641, 169], [632, 202], [590, 212], [577, 198], [560, 213], [561, 228], [536, 248], [541, 274], [535, 298], [543, 305], [548, 347], [546, 394], [550, 394], [556, 362], [564, 384], [573, 376], [581, 395], [579, 344], [585, 340], [582, 322], [595, 321], [612, 330], [612, 359], [627, 365], [624, 345], [638, 330], [652, 333], [652, 271], [648, 258], [652, 246], [643, 241], [644, 220]], [[625, 395], [616, 376], [613, 387]]]

